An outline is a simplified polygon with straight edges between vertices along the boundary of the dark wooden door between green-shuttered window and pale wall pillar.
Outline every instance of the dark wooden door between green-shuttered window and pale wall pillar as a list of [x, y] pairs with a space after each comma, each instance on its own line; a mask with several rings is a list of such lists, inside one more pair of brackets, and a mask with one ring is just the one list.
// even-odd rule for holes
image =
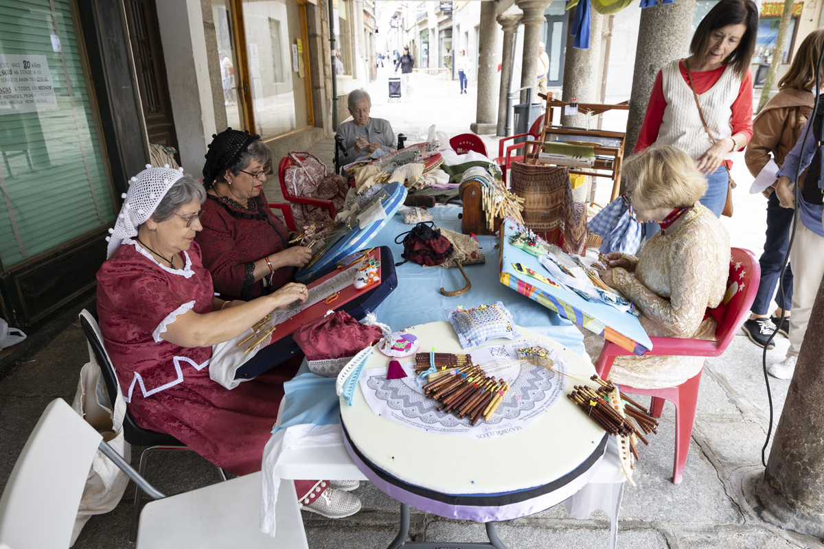
[[[175, 121], [171, 114], [166, 63], [163, 61], [155, 2], [125, 0], [124, 5], [149, 142], [160, 143], [177, 151]], [[175, 160], [180, 164], [180, 153], [175, 154]]]

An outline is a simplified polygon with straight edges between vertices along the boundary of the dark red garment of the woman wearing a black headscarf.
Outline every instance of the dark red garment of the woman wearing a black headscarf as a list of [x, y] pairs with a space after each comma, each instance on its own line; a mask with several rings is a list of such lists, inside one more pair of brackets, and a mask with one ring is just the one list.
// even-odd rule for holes
[[200, 244], [204, 267], [212, 273], [214, 289], [222, 299], [248, 301], [292, 281], [293, 267], [254, 280], [255, 261], [288, 246], [288, 230], [269, 209], [262, 191], [250, 198], [250, 209], [231, 199], [206, 196], [200, 216], [204, 230], [194, 240]]

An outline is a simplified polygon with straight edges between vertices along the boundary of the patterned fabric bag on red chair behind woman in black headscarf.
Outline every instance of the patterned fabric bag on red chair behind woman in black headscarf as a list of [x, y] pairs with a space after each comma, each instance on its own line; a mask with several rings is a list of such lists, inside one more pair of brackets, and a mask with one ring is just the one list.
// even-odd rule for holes
[[[346, 179], [331, 172], [317, 156], [308, 152], [290, 152], [289, 158], [294, 165], [289, 166], [283, 174], [283, 183], [289, 193], [306, 198], [330, 200], [335, 211], [344, 209], [346, 192], [349, 184]], [[329, 212], [322, 207], [292, 202], [292, 213], [297, 226], [314, 221], [329, 221]]]

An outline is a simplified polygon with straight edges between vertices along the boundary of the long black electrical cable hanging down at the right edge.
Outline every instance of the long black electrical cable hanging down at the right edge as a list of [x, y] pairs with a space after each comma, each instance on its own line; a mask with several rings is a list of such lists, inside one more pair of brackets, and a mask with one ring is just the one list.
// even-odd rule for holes
[[[795, 240], [795, 227], [798, 225], [798, 220], [799, 220], [798, 207], [799, 207], [800, 202], [798, 202], [798, 201], [803, 200], [803, 198], [801, 197], [801, 191], [799, 190], [798, 175], [801, 173], [801, 163], [803, 161], [803, 151], [804, 151], [804, 145], [803, 144], [807, 142], [807, 137], [810, 134], [810, 132], [812, 131], [812, 125], [813, 125], [812, 124], [812, 119], [818, 113], [818, 104], [821, 101], [821, 97], [822, 97], [822, 93], [821, 93], [821, 68], [822, 68], [822, 62], [824, 62], [824, 47], [822, 47], [821, 52], [819, 52], [819, 54], [818, 54], [818, 63], [816, 65], [816, 83], [815, 83], [815, 87], [813, 88], [814, 90], [817, 91], [816, 100], [812, 104], [812, 111], [810, 112], [810, 117], [808, 118], [807, 128], [804, 131], [803, 136], [801, 136], [801, 138], [800, 138], [800, 141], [802, 143], [801, 154], [798, 157], [798, 164], [795, 166], [795, 177], [793, 179], [793, 181], [794, 181], [793, 192], [794, 192], [794, 195], [795, 195], [795, 208], [794, 208], [795, 212], [794, 212], [794, 215], [793, 215], [793, 228], [790, 230], [790, 233], [789, 233], [789, 245], [787, 246], [787, 252], [784, 254], [784, 264], [782, 265], [781, 272], [779, 272], [779, 276], [778, 276], [779, 297], [780, 297], [780, 301], [781, 301], [781, 304], [782, 304], [781, 305], [782, 306], [782, 314], [784, 314], [786, 311], [784, 311], [784, 309], [783, 309], [784, 303], [785, 303], [785, 301], [784, 301], [785, 295], [784, 295], [784, 286], [782, 285], [781, 281], [784, 280], [784, 272], [787, 269], [787, 263], [789, 263], [789, 252], [790, 252], [791, 249], [793, 249], [793, 240]], [[824, 153], [824, 123], [822, 123], [821, 133], [822, 134], [818, 136], [818, 151], [817, 151], [817, 153], [815, 153], [815, 154], [818, 154], [818, 155], [822, 155], [822, 153]], [[813, 157], [814, 156], [815, 155], [813, 155]], [[822, 173], [817, 174], [817, 176], [818, 176], [817, 177], [817, 183], [819, 184], [819, 187], [821, 187], [821, 182], [822, 182], [822, 180], [824, 180], [824, 158], [822, 158], [821, 167], [822, 167]], [[806, 179], [811, 179], [809, 177], [809, 175], [810, 174], [808, 174], [808, 177]], [[812, 181], [808, 182], [808, 184], [810, 184], [810, 183], [812, 183]], [[766, 440], [764, 441], [764, 446], [761, 448], [761, 464], [764, 465], [764, 467], [767, 466], [767, 463], [766, 463], [766, 449], [767, 449], [767, 446], [770, 444], [770, 435], [772, 435], [772, 424], [773, 424], [773, 403], [772, 403], [772, 393], [770, 392], [770, 375], [767, 372], [767, 347], [770, 347], [770, 342], [772, 342], [773, 338], [775, 338], [775, 334], [778, 333], [780, 325], [782, 323], [784, 323], [784, 317], [783, 316], [782, 316], [781, 319], [779, 319], [779, 324], [777, 326], [775, 326], [775, 330], [773, 330], [773, 333], [770, 334], [770, 338], [767, 339], [766, 343], [764, 344], [764, 352], [761, 354], [761, 365], [762, 365], [763, 370], [764, 370], [764, 380], [765, 380], [766, 387], [767, 387], [767, 402], [770, 405], [770, 421], [768, 422], [768, 426], [767, 426]]]

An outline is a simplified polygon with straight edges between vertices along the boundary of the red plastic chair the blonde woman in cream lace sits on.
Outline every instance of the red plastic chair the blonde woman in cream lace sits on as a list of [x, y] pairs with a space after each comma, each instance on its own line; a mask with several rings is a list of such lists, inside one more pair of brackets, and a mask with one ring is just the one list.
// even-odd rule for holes
[[[650, 337], [653, 350], [645, 356], [720, 356], [733, 341], [735, 333], [749, 312], [752, 301], [756, 299], [758, 281], [761, 279], [761, 267], [756, 257], [747, 249], [733, 248], [729, 263], [727, 293], [722, 304], [711, 312], [720, 318], [715, 328], [715, 339], [687, 339], [684, 337]], [[602, 379], [610, 374], [616, 356], [632, 355], [615, 343], [606, 342], [601, 356], [595, 365], [595, 371]], [[703, 370], [703, 366], [702, 366]], [[642, 389], [621, 385], [621, 392], [643, 394], [652, 397], [650, 412], [660, 417], [664, 400], [675, 405], [675, 461], [672, 464], [672, 483], [681, 484], [686, 465], [686, 454], [690, 451], [692, 424], [695, 421], [695, 408], [698, 404], [698, 385], [701, 372], [676, 387]]]

